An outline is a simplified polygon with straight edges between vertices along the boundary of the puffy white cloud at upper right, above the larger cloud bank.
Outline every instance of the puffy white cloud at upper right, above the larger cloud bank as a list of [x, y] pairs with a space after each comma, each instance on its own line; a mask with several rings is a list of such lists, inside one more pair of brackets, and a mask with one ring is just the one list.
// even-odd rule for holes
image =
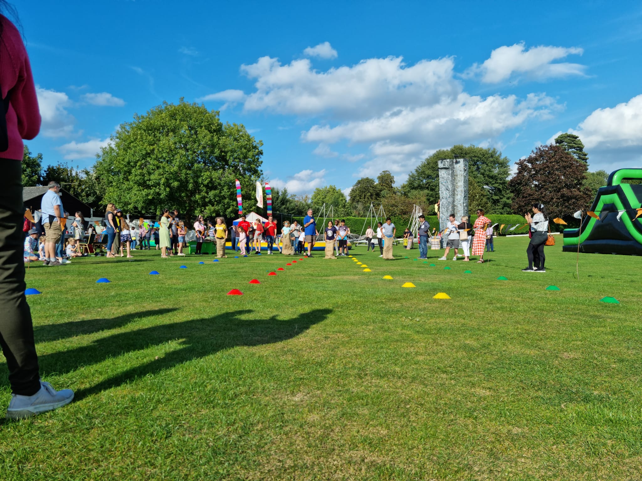
[[569, 55], [582, 55], [584, 50], [578, 47], [531, 47], [526, 50], [525, 44], [514, 44], [494, 49], [490, 58], [482, 65], [474, 64], [467, 75], [481, 74], [485, 83], [498, 83], [508, 80], [512, 74], [524, 74], [535, 80], [583, 75], [585, 65], [579, 63], [552, 63]]

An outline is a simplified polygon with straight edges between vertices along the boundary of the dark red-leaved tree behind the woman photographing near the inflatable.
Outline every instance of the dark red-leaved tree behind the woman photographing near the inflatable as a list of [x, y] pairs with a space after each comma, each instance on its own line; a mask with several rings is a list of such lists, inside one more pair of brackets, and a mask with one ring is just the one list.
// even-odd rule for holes
[[539, 146], [516, 165], [517, 174], [508, 181], [516, 214], [528, 212], [534, 203], [543, 203], [551, 219], [568, 219], [573, 212], [590, 207], [591, 190], [584, 187], [586, 162], [577, 160], [562, 146]]

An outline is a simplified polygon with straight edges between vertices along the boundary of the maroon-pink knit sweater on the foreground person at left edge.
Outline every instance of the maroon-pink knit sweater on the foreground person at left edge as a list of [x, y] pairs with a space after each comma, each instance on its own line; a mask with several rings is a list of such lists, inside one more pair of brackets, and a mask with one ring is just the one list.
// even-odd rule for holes
[[0, 85], [3, 98], [10, 93], [6, 112], [9, 148], [0, 152], [1, 158], [22, 160], [22, 139], [33, 139], [40, 131], [38, 96], [31, 74], [27, 51], [20, 32], [6, 17], [0, 15]]

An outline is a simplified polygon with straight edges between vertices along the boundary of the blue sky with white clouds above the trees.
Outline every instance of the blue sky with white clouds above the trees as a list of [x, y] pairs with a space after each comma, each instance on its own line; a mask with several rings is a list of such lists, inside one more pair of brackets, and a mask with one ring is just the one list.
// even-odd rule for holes
[[19, 15], [45, 164], [86, 167], [121, 122], [203, 102], [263, 140], [296, 194], [458, 143], [515, 162], [560, 131], [591, 170], [642, 167], [642, 4], [32, 1]]

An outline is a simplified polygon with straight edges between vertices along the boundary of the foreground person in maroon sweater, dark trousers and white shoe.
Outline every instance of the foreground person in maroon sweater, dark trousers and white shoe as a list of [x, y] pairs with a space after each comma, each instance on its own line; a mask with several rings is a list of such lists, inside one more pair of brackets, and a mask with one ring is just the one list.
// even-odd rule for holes
[[[0, 12], [13, 12], [13, 8], [0, 0]], [[4, 15], [0, 15], [0, 85], [3, 99], [9, 96], [4, 115], [8, 148], [0, 152], [4, 178], [0, 189], [0, 345], [12, 391], [6, 417], [21, 419], [64, 406], [74, 393], [55, 391], [40, 380], [31, 311], [24, 296], [22, 139], [38, 135], [40, 111], [22, 37]]]

